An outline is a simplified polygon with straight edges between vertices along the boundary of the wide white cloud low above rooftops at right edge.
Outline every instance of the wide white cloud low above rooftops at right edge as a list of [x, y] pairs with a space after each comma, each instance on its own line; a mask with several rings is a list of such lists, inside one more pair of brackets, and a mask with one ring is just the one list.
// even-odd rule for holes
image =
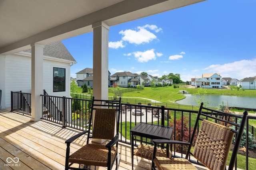
[[206, 70], [208, 73], [220, 73], [222, 77], [236, 78], [238, 80], [254, 77], [256, 76], [256, 58], [226, 64], [212, 64], [203, 70]]

